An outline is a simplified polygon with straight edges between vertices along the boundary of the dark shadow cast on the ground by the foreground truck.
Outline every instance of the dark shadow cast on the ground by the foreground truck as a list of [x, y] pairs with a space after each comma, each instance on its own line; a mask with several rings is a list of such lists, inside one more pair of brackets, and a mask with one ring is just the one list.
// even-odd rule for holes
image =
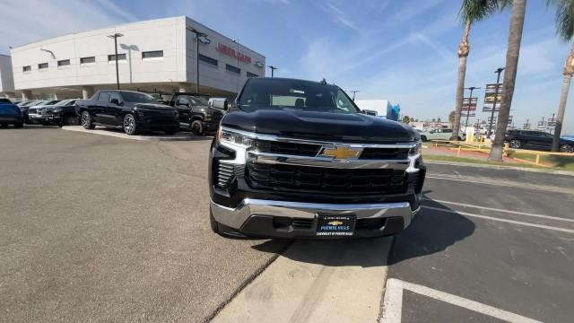
[[[431, 200], [425, 205], [451, 209]], [[282, 256], [323, 266], [389, 266], [448, 249], [474, 232], [474, 223], [460, 214], [422, 208], [413, 223], [395, 238], [357, 240], [296, 240]], [[274, 252], [277, 240], [266, 240], [252, 248]]]

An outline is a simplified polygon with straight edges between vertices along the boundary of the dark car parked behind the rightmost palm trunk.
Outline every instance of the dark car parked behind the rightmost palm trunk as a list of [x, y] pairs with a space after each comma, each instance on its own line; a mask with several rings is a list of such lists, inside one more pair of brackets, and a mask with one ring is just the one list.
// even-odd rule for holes
[[[553, 135], [536, 130], [509, 130], [504, 141], [510, 148], [550, 151], [552, 149]], [[574, 153], [574, 143], [570, 140], [560, 140], [561, 153]]]

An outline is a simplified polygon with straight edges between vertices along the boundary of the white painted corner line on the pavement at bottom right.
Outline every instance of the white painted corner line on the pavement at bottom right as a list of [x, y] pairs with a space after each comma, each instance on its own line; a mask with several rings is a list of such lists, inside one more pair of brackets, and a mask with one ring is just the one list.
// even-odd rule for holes
[[466, 310], [473, 310], [492, 318], [502, 319], [513, 323], [539, 323], [535, 319], [529, 319], [524, 316], [511, 313], [507, 310], [500, 310], [490, 305], [480, 303], [478, 301], [471, 301], [463, 297], [449, 294], [448, 292], [441, 292], [420, 284], [413, 284], [403, 282], [395, 278], [387, 280], [387, 287], [385, 292], [385, 299], [383, 302], [383, 317], [381, 323], [399, 323], [402, 317], [403, 308], [403, 290], [416, 292], [418, 294], [430, 297], [435, 300], [448, 302]]

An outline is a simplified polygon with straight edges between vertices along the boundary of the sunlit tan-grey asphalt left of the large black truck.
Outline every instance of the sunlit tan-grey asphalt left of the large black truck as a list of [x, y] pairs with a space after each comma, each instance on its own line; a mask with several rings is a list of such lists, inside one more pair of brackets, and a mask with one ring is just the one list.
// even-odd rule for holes
[[0, 321], [210, 317], [286, 245], [210, 231], [210, 141], [0, 129]]

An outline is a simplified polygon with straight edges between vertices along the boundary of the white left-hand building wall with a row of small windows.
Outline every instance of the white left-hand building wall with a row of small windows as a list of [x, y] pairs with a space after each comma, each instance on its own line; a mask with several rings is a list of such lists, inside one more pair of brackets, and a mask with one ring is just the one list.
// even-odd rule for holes
[[[95, 85], [116, 83], [115, 62], [108, 56], [115, 52], [126, 54], [119, 61], [120, 83], [185, 82], [185, 34], [181, 31], [185, 17], [135, 22], [47, 39], [12, 49], [13, 74], [16, 90], [55, 86]], [[179, 28], [178, 28], [179, 27]], [[163, 50], [161, 59], [142, 59], [143, 51]], [[80, 64], [82, 57], [95, 57], [93, 64]], [[70, 65], [58, 67], [59, 60], [70, 59]], [[39, 70], [39, 64], [48, 68]], [[23, 66], [30, 65], [30, 72]]]

